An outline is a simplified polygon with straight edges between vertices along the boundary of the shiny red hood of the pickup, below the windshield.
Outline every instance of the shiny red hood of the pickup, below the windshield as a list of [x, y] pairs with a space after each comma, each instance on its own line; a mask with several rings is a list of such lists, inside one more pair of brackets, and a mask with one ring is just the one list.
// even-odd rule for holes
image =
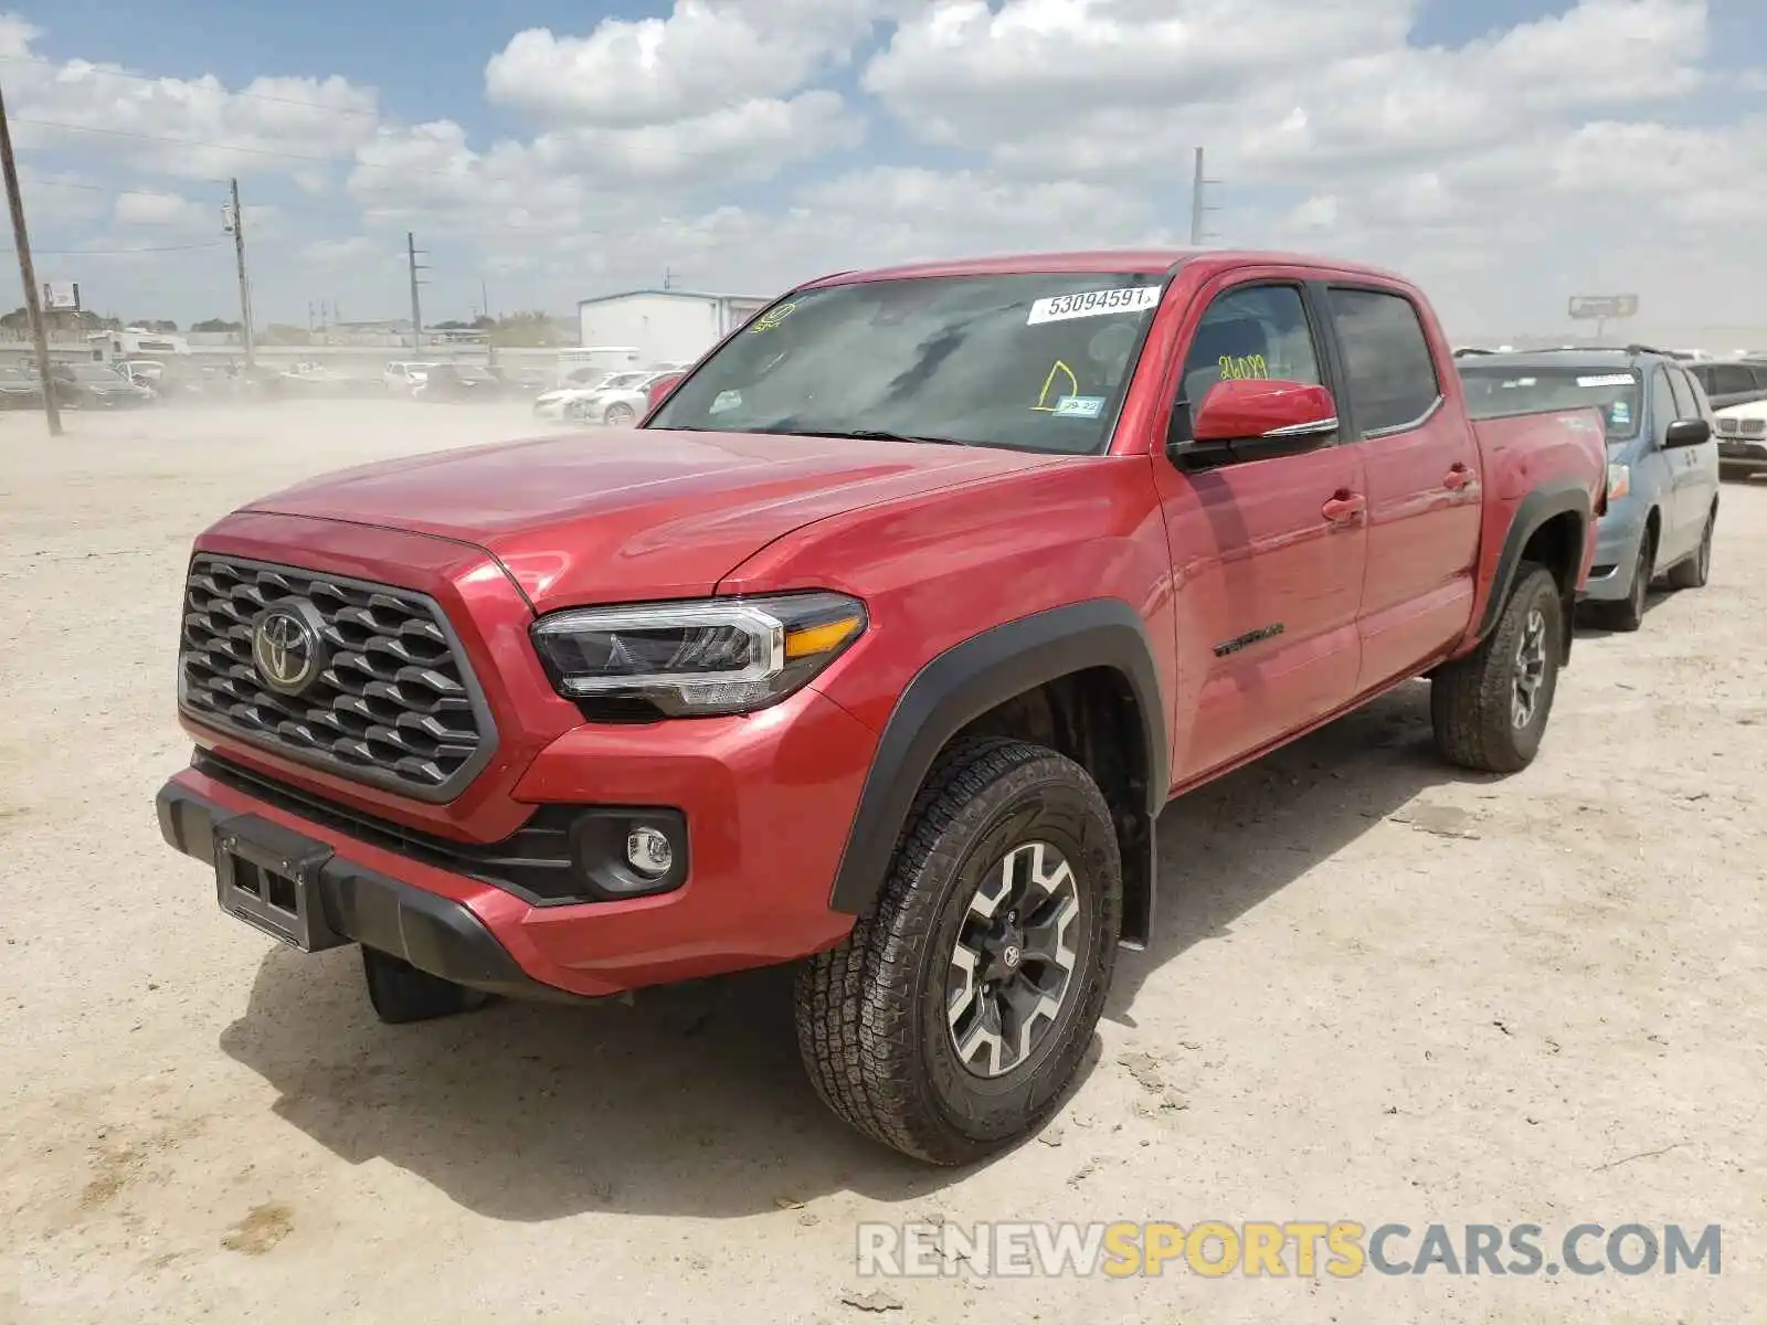
[[369, 465], [246, 509], [470, 542], [548, 611], [710, 594], [811, 521], [1058, 463], [988, 447], [622, 429]]

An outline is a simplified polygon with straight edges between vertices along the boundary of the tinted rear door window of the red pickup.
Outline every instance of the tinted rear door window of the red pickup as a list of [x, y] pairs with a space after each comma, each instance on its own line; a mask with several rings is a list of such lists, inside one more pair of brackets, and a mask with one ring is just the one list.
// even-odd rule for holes
[[1430, 337], [1405, 295], [1384, 290], [1331, 292], [1343, 344], [1350, 410], [1362, 436], [1414, 428], [1442, 399]]

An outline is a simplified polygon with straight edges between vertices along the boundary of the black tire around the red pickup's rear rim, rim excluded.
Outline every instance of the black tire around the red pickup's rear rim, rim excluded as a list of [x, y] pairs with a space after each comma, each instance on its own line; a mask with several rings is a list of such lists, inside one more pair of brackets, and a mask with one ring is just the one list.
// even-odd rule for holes
[[[1544, 675], [1532, 717], [1514, 723], [1518, 650], [1528, 618], [1544, 617]], [[1507, 774], [1527, 768], [1539, 753], [1564, 661], [1564, 599], [1551, 571], [1523, 562], [1497, 627], [1484, 641], [1430, 682], [1430, 719], [1437, 747], [1451, 763], [1477, 772]]]

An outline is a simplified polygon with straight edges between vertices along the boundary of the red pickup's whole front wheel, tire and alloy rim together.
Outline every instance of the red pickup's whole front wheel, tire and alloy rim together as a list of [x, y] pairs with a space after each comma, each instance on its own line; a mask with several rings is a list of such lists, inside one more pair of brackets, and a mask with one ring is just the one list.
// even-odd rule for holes
[[933, 1164], [1021, 1140], [1080, 1069], [1120, 924], [1117, 834], [1087, 770], [1020, 740], [952, 746], [875, 915], [799, 973], [816, 1094]]

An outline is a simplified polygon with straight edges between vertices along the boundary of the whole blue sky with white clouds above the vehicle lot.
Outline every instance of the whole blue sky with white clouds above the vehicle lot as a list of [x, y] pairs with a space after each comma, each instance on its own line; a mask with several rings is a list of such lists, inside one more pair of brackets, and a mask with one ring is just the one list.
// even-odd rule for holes
[[[41, 265], [127, 316], [230, 311], [224, 249], [134, 249], [217, 242], [231, 173], [269, 208], [249, 230], [260, 322], [306, 322], [320, 300], [399, 313], [406, 228], [435, 269], [431, 314], [468, 316], [481, 281], [495, 307], [564, 311], [664, 269], [767, 293], [813, 269], [938, 251], [1182, 242], [1196, 140], [1226, 180], [1221, 242], [1403, 260], [1468, 323], [1539, 323], [1558, 286], [1612, 281], [1679, 322], [1702, 300], [1709, 320], [1746, 314], [1723, 272], [1767, 217], [1726, 194], [1767, 194], [1751, 125], [1767, 113], [1763, 0], [1242, 0], [1240, 34], [1267, 34], [1251, 55], [1207, 25], [1161, 26], [1207, 19], [1217, 0], [1027, 5], [970, 0], [951, 44], [919, 0], [686, 0], [686, 14], [57, 0], [12, 5], [35, 32], [0, 80], [41, 182]], [[1530, 26], [1553, 16], [1578, 25], [1574, 41]], [[668, 21], [656, 67], [620, 46], [640, 19]], [[551, 35], [498, 90], [488, 65], [528, 28]], [[707, 48], [709, 32], [735, 53]], [[1170, 87], [1149, 51], [1170, 55]], [[228, 94], [345, 80], [337, 95], [368, 101], [329, 129], [274, 124], [284, 108], [262, 92], [136, 104], [140, 78], [76, 104], [44, 83], [71, 60], [212, 76]], [[608, 97], [585, 95], [603, 85]], [[431, 122], [445, 127], [413, 129]], [[254, 154], [209, 152], [210, 173], [155, 138]], [[1636, 171], [1659, 177], [1654, 196], [1627, 182]], [[1652, 244], [1689, 235], [1702, 253], [1642, 270]]]

